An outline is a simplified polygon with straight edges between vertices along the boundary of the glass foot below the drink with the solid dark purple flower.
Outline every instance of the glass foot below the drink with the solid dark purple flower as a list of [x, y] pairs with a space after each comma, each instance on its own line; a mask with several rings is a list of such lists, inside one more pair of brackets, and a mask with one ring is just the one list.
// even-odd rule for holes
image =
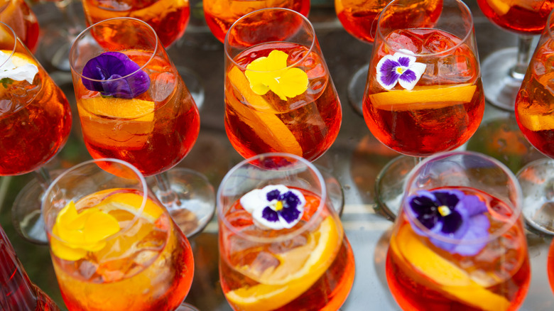
[[[171, 190], [177, 195], [176, 200], [164, 203], [165, 208], [190, 239], [199, 234], [214, 215], [214, 187], [204, 175], [188, 168], [172, 168], [165, 173]], [[156, 180], [149, 180], [149, 185], [158, 198], [162, 197]]]

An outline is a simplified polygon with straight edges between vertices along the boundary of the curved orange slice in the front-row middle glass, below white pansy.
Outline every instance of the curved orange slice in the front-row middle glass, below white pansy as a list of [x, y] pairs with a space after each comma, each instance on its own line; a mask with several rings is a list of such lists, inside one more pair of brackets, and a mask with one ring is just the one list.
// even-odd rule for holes
[[[325, 218], [305, 246], [276, 255], [281, 265], [262, 274], [260, 284], [229, 291], [225, 297], [239, 310], [267, 311], [288, 304], [327, 271], [337, 256], [340, 237], [335, 220]], [[294, 262], [297, 260], [300, 266]], [[244, 267], [238, 270], [244, 271]]]

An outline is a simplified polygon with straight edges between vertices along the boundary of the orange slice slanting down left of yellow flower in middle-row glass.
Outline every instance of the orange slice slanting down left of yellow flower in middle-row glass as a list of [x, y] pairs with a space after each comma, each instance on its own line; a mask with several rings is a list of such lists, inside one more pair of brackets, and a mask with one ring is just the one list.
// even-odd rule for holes
[[248, 124], [252, 131], [273, 150], [302, 156], [302, 147], [290, 129], [276, 116], [278, 111], [264, 98], [252, 91], [244, 73], [238, 67], [233, 67], [229, 70], [227, 77], [246, 102], [254, 108], [246, 107], [233, 96], [227, 96], [227, 104], [237, 111], [241, 120]]

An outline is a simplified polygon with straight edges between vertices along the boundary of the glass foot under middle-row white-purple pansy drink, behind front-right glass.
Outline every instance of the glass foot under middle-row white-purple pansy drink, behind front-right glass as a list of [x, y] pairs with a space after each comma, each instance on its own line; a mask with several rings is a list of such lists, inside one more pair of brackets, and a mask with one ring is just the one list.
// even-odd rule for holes
[[400, 212], [404, 194], [404, 180], [418, 164], [418, 158], [401, 155], [387, 163], [377, 176], [375, 183], [375, 201], [377, 212], [394, 220]]

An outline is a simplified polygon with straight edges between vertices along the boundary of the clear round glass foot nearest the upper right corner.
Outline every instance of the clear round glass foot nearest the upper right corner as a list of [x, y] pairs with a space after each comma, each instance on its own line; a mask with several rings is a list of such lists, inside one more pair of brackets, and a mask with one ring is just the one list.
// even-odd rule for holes
[[505, 48], [492, 53], [481, 64], [485, 99], [506, 111], [515, 111], [516, 96], [523, 81], [523, 76], [511, 75], [516, 61], [517, 48]]

